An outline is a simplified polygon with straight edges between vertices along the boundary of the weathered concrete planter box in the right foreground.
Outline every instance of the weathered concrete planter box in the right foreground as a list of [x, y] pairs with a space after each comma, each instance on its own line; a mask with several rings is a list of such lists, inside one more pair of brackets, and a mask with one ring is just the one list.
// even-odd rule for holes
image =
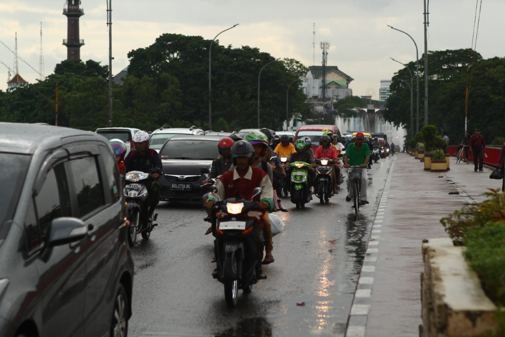
[[484, 337], [497, 330], [496, 306], [447, 238], [423, 241], [421, 274], [423, 337]]

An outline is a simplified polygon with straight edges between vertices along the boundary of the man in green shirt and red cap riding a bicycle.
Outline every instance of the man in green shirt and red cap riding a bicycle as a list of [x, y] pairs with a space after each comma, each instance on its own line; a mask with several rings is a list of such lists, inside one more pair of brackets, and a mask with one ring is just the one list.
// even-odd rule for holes
[[[367, 182], [368, 182], [368, 174], [365, 167], [368, 165], [368, 161], [370, 160], [370, 148], [368, 144], [364, 142], [365, 135], [363, 132], [358, 132], [356, 134], [356, 142], [349, 144], [347, 149], [345, 150], [344, 157], [344, 167], [348, 168], [349, 166], [359, 166], [362, 168], [361, 172], [361, 204], [368, 204], [367, 201]], [[351, 189], [349, 189], [349, 180], [347, 180], [347, 197], [345, 197], [345, 201], [349, 202], [352, 199]]]

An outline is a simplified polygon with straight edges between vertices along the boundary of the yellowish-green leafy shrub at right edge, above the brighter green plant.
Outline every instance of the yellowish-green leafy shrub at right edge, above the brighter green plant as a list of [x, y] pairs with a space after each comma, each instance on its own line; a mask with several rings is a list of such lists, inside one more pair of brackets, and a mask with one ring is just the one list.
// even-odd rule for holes
[[483, 227], [488, 222], [505, 225], [505, 193], [489, 189], [484, 193], [488, 197], [478, 205], [464, 206], [460, 211], [454, 212], [440, 219], [452, 241], [461, 245], [467, 237], [467, 232], [473, 227]]

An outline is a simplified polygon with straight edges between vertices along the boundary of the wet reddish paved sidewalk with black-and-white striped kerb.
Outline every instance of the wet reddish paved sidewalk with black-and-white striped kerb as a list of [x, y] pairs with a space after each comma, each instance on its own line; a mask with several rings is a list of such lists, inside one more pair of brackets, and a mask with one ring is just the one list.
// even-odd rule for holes
[[[440, 218], [482, 201], [486, 188], [501, 188], [501, 180], [489, 179], [491, 171], [474, 172], [473, 164], [451, 159], [450, 171], [432, 173], [414, 157], [396, 155], [375, 205], [347, 337], [419, 336], [422, 240], [446, 237]], [[460, 194], [449, 195], [455, 191]]]

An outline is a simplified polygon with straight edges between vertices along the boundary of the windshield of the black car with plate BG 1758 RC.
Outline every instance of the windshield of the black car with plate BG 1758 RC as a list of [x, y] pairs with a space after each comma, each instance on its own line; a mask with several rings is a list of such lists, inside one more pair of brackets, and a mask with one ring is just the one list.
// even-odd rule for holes
[[216, 159], [218, 141], [205, 139], [171, 139], [160, 152], [161, 159]]

